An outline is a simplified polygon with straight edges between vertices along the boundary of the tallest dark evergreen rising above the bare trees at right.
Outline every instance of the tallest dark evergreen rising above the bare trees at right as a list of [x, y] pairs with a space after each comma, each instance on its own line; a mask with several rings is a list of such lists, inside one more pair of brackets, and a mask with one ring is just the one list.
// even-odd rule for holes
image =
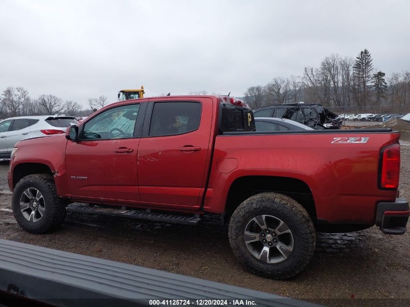
[[369, 96], [369, 83], [372, 80], [373, 64], [369, 50], [360, 51], [353, 65], [353, 81], [357, 92], [358, 104], [366, 105]]

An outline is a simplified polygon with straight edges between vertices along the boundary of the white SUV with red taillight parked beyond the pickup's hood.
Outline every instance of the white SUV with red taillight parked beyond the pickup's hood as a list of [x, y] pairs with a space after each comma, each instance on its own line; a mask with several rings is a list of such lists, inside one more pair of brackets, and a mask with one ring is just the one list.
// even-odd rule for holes
[[66, 133], [66, 128], [78, 125], [74, 116], [20, 116], [0, 123], [0, 160], [10, 159], [14, 145], [21, 140]]

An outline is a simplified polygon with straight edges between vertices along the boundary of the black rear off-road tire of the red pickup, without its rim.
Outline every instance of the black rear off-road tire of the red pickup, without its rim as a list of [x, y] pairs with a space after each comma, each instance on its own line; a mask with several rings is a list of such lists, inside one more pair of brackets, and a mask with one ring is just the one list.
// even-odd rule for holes
[[[254, 257], [245, 243], [245, 228], [258, 215], [272, 215], [292, 231], [294, 249], [279, 263], [267, 263]], [[313, 257], [316, 232], [308, 212], [293, 198], [278, 193], [261, 193], [246, 199], [234, 212], [229, 224], [229, 241], [240, 263], [256, 275], [287, 279], [299, 274]]]

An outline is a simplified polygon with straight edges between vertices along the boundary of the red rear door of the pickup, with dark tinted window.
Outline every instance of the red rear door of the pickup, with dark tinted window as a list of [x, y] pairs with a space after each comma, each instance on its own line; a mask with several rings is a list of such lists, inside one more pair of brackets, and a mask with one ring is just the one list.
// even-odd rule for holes
[[162, 207], [200, 205], [210, 157], [212, 114], [213, 101], [208, 97], [150, 99], [138, 147], [141, 201]]

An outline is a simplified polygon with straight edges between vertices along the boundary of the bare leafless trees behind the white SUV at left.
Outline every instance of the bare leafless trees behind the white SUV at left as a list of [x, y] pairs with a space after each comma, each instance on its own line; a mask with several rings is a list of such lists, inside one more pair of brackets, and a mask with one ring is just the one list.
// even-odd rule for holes
[[100, 96], [89, 98], [89, 109], [82, 110], [77, 101], [63, 100], [51, 94], [42, 94], [37, 98], [31, 98], [29, 92], [21, 86], [9, 86], [3, 90], [0, 96], [0, 118], [32, 115], [68, 115], [86, 116], [95, 109], [107, 105], [108, 98]]

